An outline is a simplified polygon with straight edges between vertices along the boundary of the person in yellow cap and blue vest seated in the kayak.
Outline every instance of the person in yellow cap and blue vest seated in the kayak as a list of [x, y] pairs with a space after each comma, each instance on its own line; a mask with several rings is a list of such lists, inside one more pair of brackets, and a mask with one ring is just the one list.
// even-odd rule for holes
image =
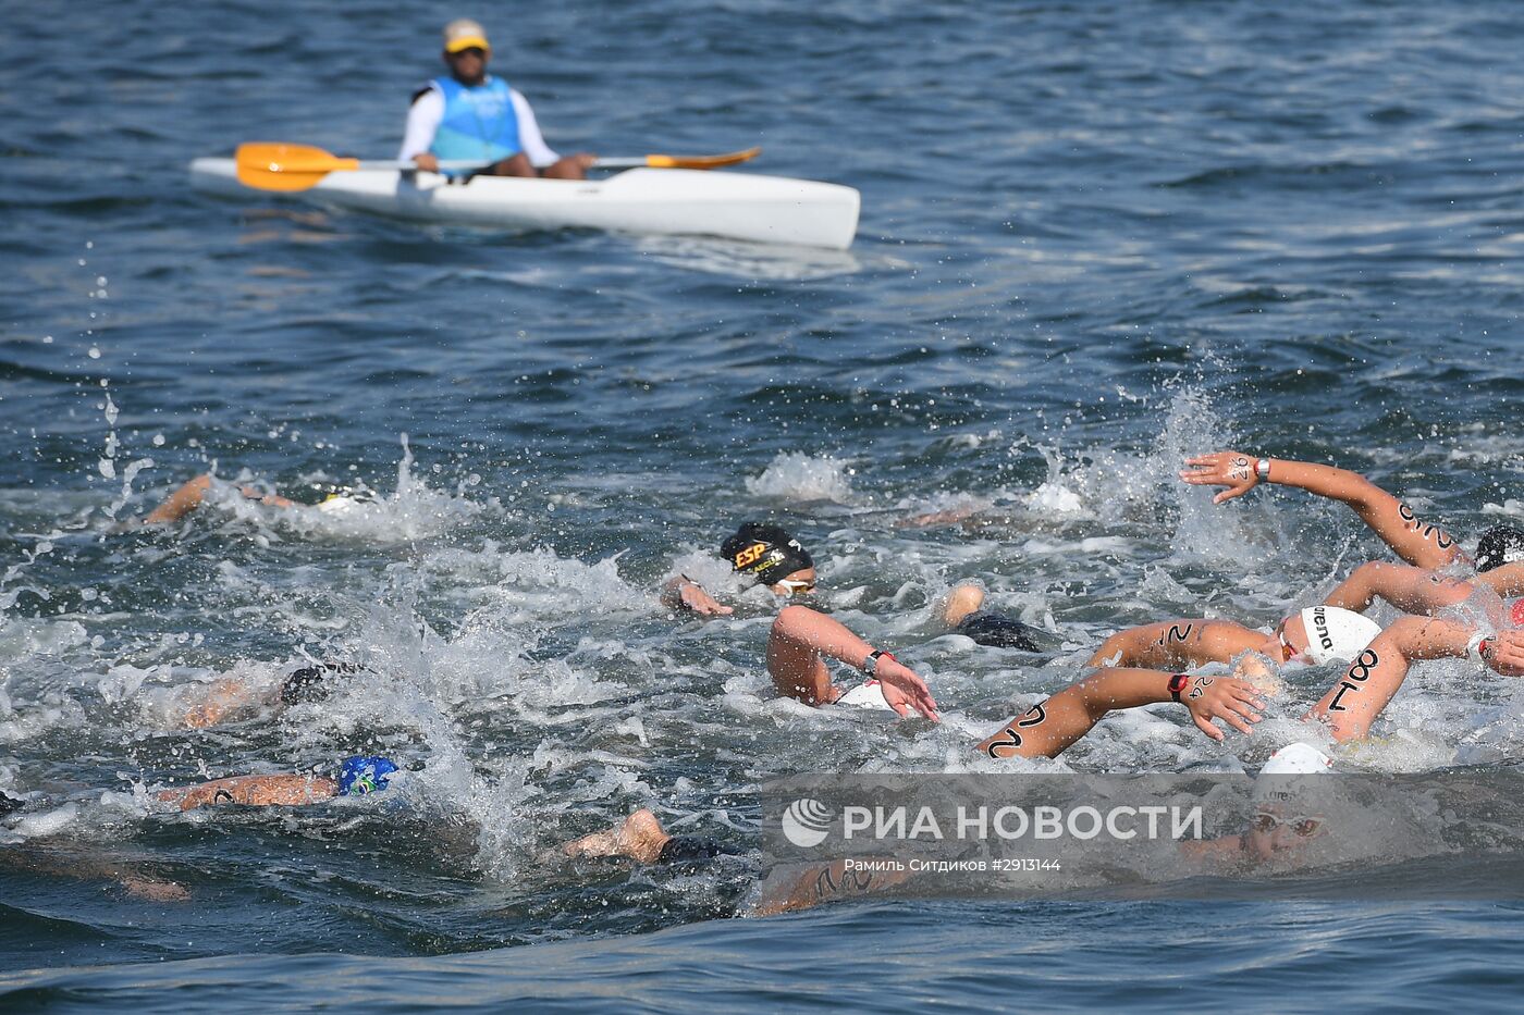
[[450, 73], [413, 94], [398, 162], [437, 172], [440, 158], [480, 158], [483, 168], [471, 175], [585, 180], [596, 157], [553, 152], [524, 96], [486, 72], [491, 56], [480, 24], [459, 18], [445, 26]]

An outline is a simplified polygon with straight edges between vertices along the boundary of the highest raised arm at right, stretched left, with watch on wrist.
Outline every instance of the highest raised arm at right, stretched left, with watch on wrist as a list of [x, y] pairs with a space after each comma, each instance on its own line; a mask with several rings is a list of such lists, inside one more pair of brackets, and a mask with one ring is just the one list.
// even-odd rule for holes
[[1288, 459], [1265, 462], [1269, 463], [1269, 475], [1262, 479], [1256, 469], [1257, 459], [1241, 451], [1216, 451], [1186, 459], [1187, 468], [1180, 479], [1195, 486], [1225, 486], [1212, 498], [1216, 504], [1242, 497], [1260, 482], [1297, 486], [1349, 504], [1408, 564], [1443, 567], [1460, 556], [1454, 536], [1439, 526], [1420, 521], [1411, 507], [1359, 472]]

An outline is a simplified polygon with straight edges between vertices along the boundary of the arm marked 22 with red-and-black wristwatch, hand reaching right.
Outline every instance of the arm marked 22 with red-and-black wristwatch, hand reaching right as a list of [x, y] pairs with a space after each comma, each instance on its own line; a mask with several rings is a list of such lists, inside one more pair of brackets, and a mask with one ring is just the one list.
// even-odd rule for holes
[[[1100, 722], [1108, 712], [1170, 701], [1172, 674], [1157, 669], [1099, 669], [1070, 684], [1047, 701], [1032, 706], [978, 745], [995, 757], [1058, 757]], [[1259, 722], [1265, 707], [1260, 690], [1233, 677], [1187, 677], [1180, 703], [1190, 710], [1196, 728], [1215, 741], [1222, 730], [1212, 719], [1222, 719], [1244, 735]]]

